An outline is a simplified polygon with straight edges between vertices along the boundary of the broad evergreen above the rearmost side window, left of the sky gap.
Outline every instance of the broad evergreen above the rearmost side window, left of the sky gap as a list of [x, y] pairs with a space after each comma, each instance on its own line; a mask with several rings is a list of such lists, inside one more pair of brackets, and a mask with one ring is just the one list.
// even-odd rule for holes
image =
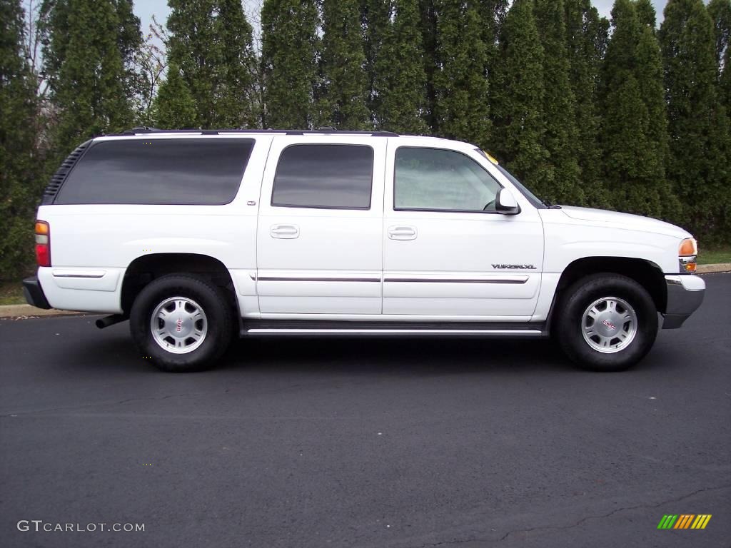
[[238, 0], [170, 0], [170, 62], [180, 67], [202, 128], [250, 127], [256, 58]]

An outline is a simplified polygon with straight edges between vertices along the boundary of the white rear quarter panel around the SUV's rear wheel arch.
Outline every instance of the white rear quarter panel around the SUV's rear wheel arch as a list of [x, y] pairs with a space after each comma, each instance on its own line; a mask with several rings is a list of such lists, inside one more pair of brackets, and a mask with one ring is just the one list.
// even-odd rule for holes
[[270, 142], [257, 138], [238, 194], [227, 205], [42, 205], [37, 217], [50, 224], [52, 266], [39, 268], [38, 276], [50, 305], [121, 313], [122, 281], [132, 261], [186, 253], [218, 259], [232, 275], [240, 307], [257, 307], [249, 273], [256, 273], [257, 213]]

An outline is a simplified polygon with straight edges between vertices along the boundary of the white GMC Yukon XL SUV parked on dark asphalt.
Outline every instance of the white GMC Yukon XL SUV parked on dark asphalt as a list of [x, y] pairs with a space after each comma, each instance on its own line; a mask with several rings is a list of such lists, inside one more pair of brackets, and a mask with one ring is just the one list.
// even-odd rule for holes
[[36, 242], [32, 305], [129, 319], [170, 371], [234, 335], [555, 335], [621, 370], [705, 289], [681, 228], [551, 206], [474, 145], [390, 133], [97, 137], [53, 176]]

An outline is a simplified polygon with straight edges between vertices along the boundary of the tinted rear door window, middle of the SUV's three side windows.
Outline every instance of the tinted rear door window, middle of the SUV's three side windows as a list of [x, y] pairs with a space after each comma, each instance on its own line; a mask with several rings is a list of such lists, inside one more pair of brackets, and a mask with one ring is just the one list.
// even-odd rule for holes
[[271, 204], [370, 209], [373, 161], [366, 145], [291, 145], [279, 156]]

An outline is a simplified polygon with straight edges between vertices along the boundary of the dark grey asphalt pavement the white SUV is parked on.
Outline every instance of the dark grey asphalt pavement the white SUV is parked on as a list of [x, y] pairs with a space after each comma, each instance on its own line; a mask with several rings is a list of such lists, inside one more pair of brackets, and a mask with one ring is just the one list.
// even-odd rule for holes
[[609, 374], [548, 341], [269, 339], [175, 375], [126, 323], [2, 320], [0, 546], [729, 547], [731, 274], [705, 280]]

